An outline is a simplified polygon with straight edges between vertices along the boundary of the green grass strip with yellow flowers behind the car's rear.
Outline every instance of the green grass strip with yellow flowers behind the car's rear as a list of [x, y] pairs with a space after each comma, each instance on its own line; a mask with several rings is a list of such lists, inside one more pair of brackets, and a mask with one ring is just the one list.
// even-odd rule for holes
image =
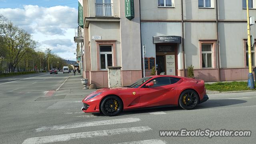
[[250, 90], [250, 88], [247, 87], [247, 82], [217, 82], [214, 84], [205, 84], [205, 87], [206, 90], [219, 92]]

